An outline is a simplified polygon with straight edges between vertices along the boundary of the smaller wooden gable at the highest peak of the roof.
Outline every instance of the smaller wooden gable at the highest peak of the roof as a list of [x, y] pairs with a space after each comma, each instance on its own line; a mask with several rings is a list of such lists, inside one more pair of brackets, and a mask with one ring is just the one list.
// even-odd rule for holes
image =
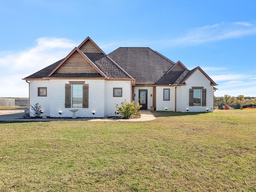
[[103, 53], [106, 55], [101, 48], [94, 43], [94, 41], [87, 37], [79, 46], [78, 49], [80, 49], [83, 53]]

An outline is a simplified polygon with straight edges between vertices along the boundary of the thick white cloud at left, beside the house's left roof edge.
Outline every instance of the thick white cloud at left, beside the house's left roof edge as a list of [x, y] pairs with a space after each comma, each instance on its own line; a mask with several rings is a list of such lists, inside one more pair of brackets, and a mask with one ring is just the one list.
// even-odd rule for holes
[[39, 38], [36, 46], [0, 53], [0, 97], [28, 97], [26, 76], [64, 58], [77, 44], [65, 38]]

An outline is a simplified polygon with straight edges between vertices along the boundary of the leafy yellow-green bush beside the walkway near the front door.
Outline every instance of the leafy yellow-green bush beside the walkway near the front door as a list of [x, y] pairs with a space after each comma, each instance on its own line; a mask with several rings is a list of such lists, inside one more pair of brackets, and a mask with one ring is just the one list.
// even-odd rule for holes
[[124, 102], [121, 102], [121, 106], [116, 103], [116, 113], [120, 113], [120, 115], [124, 116], [124, 118], [129, 119], [131, 118], [134, 114], [140, 114], [138, 111], [142, 105], [137, 103], [136, 105], [134, 104], [134, 101], [132, 102], [127, 102], [126, 99], [124, 99]]

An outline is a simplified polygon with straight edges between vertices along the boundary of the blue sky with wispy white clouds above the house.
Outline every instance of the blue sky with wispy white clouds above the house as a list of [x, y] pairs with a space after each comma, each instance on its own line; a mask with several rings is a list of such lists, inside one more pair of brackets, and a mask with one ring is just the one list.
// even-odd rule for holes
[[200, 66], [216, 96], [256, 97], [256, 1], [0, 1], [0, 97], [28, 97], [21, 78], [87, 36], [107, 54], [150, 47]]

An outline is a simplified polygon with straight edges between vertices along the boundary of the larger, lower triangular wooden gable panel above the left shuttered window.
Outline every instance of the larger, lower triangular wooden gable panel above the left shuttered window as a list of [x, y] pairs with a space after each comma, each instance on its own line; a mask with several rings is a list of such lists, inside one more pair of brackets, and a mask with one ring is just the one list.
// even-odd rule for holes
[[99, 73], [92, 65], [75, 52], [66, 62], [59, 68], [57, 73]]

